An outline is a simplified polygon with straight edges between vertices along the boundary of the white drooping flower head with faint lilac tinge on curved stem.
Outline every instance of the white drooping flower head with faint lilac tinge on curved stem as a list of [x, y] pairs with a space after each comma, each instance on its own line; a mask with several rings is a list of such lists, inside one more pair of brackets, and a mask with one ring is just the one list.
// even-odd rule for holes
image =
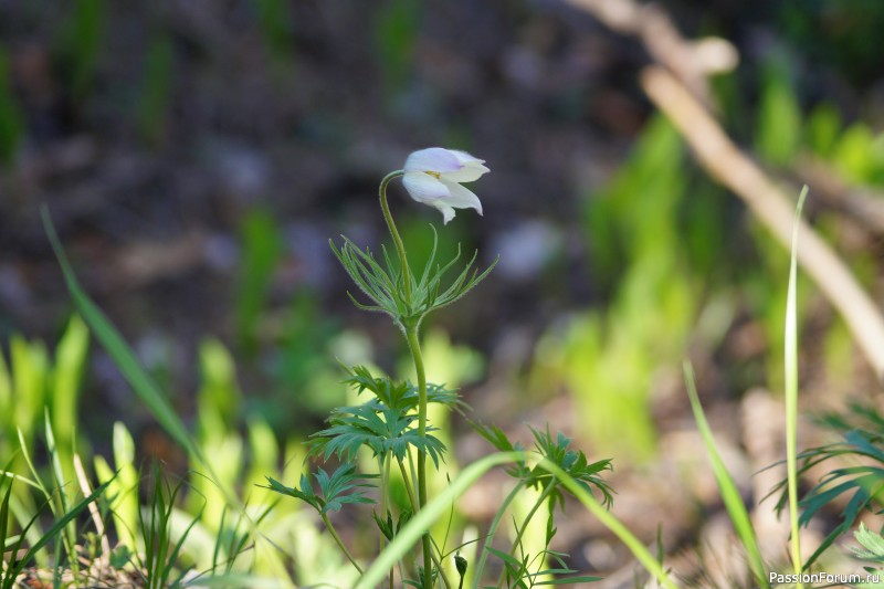
[[491, 170], [466, 151], [430, 147], [414, 151], [406, 160], [402, 183], [411, 198], [435, 207], [445, 223], [454, 219], [454, 209], [475, 209], [482, 214], [482, 203], [472, 190], [461, 182], [478, 180]]

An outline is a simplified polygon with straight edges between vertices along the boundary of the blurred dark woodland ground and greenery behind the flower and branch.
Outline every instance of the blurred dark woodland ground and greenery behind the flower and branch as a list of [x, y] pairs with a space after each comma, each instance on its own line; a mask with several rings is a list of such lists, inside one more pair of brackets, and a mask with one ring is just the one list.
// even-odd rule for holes
[[[709, 80], [709, 104], [774, 178], [815, 173], [880, 198], [884, 3], [657, 6], [686, 39], [733, 44], [739, 62]], [[19, 398], [53, 395], [56, 346], [74, 328], [45, 206], [84, 287], [186, 422], [206, 428], [214, 403], [218, 427], [265, 435], [281, 452], [265, 462], [282, 465], [347, 401], [336, 358], [410, 375], [389, 319], [348, 301], [328, 240], [378, 250], [380, 179], [412, 150], [463, 149], [492, 169], [471, 186], [484, 217], [442, 228], [390, 191], [415, 263], [430, 223], [445, 256], [459, 242], [482, 265], [501, 255], [424, 324], [430, 379], [517, 438], [549, 422], [613, 457], [614, 509], [643, 539], [660, 524], [667, 550], [711, 543], [720, 505], [681, 361], [694, 360], [730, 465], [760, 499], [769, 488], [749, 475], [781, 457], [789, 257], [655, 112], [639, 85], [651, 60], [556, 0], [0, 0], [3, 372]], [[881, 227], [810, 188], [814, 227], [880, 299]], [[799, 296], [803, 409], [875, 397], [831, 306], [809, 282]], [[186, 471], [99, 346], [76, 378], [82, 448], [107, 454], [122, 421], [139, 460]], [[3, 427], [41, 420], [10, 410]], [[451, 428], [462, 461], [490, 450], [461, 420]], [[768, 430], [770, 444], [747, 443]], [[475, 491], [467, 517], [487, 517], [496, 484]], [[577, 568], [624, 566], [581, 517], [557, 539]]]

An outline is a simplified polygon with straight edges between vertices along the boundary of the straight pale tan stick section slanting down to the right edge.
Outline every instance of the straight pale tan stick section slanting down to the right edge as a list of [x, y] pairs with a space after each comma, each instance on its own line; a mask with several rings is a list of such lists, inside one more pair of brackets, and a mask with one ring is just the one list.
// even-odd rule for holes
[[[672, 74], [649, 66], [641, 83], [651, 101], [685, 137], [704, 168], [739, 196], [785, 248], [790, 246], [794, 206], [783, 190], [725, 135], [703, 105]], [[794, 188], [788, 192], [798, 193]], [[839, 311], [878, 382], [884, 382], [884, 319], [838, 254], [799, 221], [798, 262]]]

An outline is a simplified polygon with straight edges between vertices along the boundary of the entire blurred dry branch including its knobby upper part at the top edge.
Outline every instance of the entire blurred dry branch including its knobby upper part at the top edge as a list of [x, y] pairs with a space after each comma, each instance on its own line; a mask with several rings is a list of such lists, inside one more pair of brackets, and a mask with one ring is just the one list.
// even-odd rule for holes
[[[614, 31], [639, 38], [660, 65], [642, 72], [642, 86], [678, 128], [701, 164], [739, 196], [785, 248], [791, 244], [793, 204], [767, 175], [727, 137], [704, 107], [706, 76], [737, 62], [724, 40], [686, 41], [671, 19], [654, 4], [634, 0], [567, 0]], [[791, 189], [797, 194], [797, 189]], [[854, 214], [884, 214], [869, 199], [852, 198]], [[838, 254], [803, 221], [798, 262], [844, 318], [853, 337], [884, 383], [884, 318]]]

